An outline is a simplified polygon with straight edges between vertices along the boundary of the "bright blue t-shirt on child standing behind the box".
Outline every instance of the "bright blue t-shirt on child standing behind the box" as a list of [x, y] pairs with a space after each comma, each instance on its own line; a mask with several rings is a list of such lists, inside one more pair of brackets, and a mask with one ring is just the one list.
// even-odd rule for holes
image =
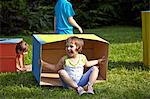
[[68, 18], [74, 15], [75, 12], [70, 2], [58, 0], [55, 6], [56, 33], [73, 34], [73, 26], [68, 22]]

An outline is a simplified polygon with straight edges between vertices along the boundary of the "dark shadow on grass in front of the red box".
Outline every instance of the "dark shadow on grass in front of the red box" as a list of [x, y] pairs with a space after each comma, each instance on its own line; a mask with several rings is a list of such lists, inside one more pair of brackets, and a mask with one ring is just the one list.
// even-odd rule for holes
[[0, 73], [0, 85], [31, 87], [36, 85], [36, 81], [32, 72]]

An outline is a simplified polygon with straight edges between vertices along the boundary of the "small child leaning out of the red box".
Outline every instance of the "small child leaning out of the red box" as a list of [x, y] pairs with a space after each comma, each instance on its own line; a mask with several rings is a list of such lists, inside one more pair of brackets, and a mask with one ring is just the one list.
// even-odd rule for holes
[[24, 54], [28, 52], [28, 44], [25, 41], [21, 41], [16, 45], [16, 65], [17, 71], [26, 71], [26, 67], [24, 66]]

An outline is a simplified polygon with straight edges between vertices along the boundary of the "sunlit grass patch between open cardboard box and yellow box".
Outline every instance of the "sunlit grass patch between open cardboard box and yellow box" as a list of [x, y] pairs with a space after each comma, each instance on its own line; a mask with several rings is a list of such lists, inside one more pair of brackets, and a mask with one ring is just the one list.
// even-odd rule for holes
[[142, 43], [110, 44], [109, 59], [113, 61], [136, 62], [142, 61]]

